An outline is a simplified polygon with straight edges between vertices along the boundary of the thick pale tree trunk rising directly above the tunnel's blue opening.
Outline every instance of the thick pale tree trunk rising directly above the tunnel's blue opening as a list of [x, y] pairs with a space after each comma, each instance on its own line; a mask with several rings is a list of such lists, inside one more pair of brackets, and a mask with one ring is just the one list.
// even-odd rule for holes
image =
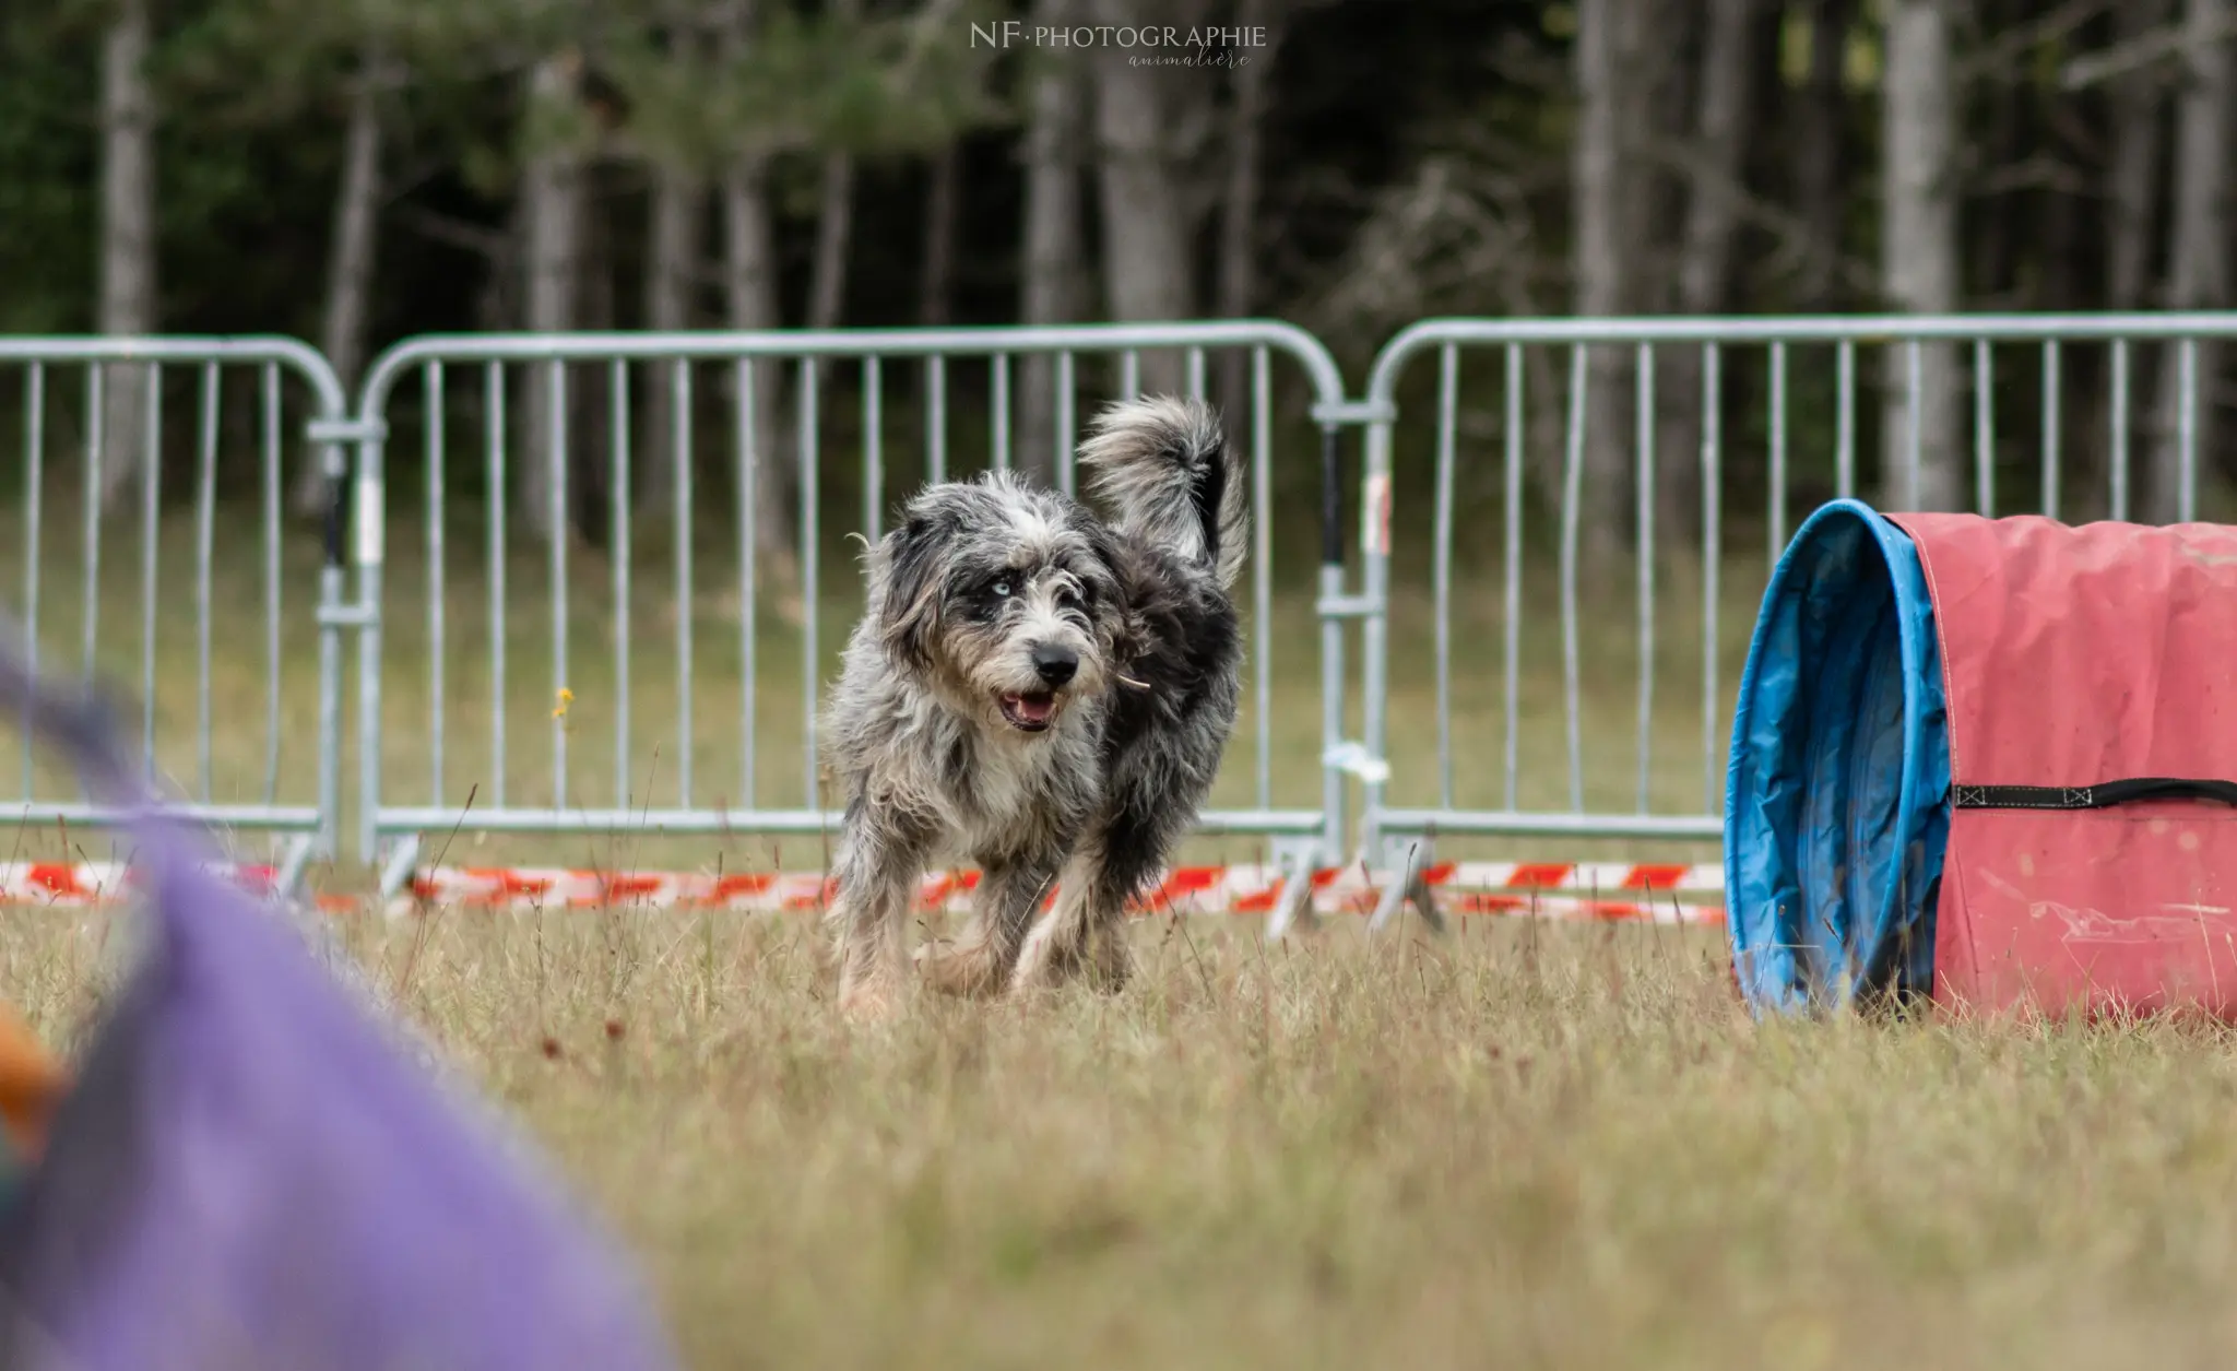
[[[1893, 0], [1881, 83], [1881, 286], [1906, 313], [1957, 309], [1957, 107], [1951, 85], [1948, 0]], [[1910, 467], [1908, 349], [1888, 349], [1881, 407], [1888, 508], [1964, 508], [1957, 349], [1922, 344], [1917, 474]]]

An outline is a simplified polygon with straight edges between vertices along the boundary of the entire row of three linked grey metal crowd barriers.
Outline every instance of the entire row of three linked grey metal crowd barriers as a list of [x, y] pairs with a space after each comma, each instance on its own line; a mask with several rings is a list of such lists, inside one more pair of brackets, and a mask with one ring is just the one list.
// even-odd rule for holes
[[[20, 389], [0, 378], [0, 412], [16, 405], [22, 423], [16, 613], [31, 631], [34, 653], [65, 653], [60, 626], [74, 637], [65, 655], [87, 671], [136, 675], [150, 774], [188, 794], [188, 812], [201, 821], [280, 836], [289, 883], [313, 854], [338, 854], [347, 631], [358, 633], [360, 675], [356, 850], [383, 868], [387, 888], [409, 874], [418, 836], [434, 830], [825, 834], [837, 814], [823, 805], [814, 767], [817, 702], [837, 624], [828, 628], [814, 613], [828, 599], [814, 532], [823, 523], [819, 485], [837, 476], [823, 470], [821, 450], [859, 445], [861, 461], [852, 463], [859, 532], [877, 537], [888, 499], [904, 492], [899, 476], [913, 483], [971, 465], [1004, 467], [1025, 456], [1029, 436], [1047, 445], [1038, 456], [1069, 490], [1083, 403], [1096, 394], [1136, 394], [1148, 371], [1168, 365], [1159, 385], [1204, 391], [1208, 360], [1239, 356], [1248, 423], [1230, 414], [1230, 429], [1250, 454], [1257, 514], [1248, 727], [1237, 738], [1250, 785], [1248, 801], [1208, 810], [1204, 830], [1273, 841], [1291, 877], [1275, 930], [1309, 917], [1302, 901], [1309, 870], [1347, 854], [1403, 870], [1405, 879], [1385, 886], [1378, 917], [1387, 919], [1400, 897], [1420, 892], [1429, 843], [1441, 836], [1714, 841], [1722, 830], [1722, 696], [1745, 646], [1747, 590], [1821, 497], [1877, 488], [1890, 505], [2197, 517], [2199, 461], [2212, 450], [2206, 434], [2208, 387], [2219, 369], [2215, 349], [2233, 338], [2237, 315], [2228, 313], [1429, 320], [1382, 347], [1365, 398], [1351, 403], [1331, 353], [1280, 322], [459, 335], [418, 338], [383, 353], [353, 416], [324, 358], [286, 338], [18, 338], [0, 340], [0, 371], [20, 376]], [[1463, 369], [1470, 349], [1492, 349], [1497, 365]], [[1438, 358], [1434, 385], [1407, 389], [1418, 371], [1412, 362], [1425, 353]], [[1289, 360], [1302, 387], [1289, 380], [1289, 389], [1277, 389], [1277, 358]], [[1020, 367], [1025, 382], [1013, 385]], [[982, 409], [957, 403], [966, 369], [969, 380], [984, 376]], [[523, 374], [526, 387], [517, 387]], [[785, 387], [790, 403], [778, 398]], [[515, 389], [523, 389], [526, 403], [512, 398]], [[595, 420], [584, 420], [586, 391], [597, 391], [602, 405]], [[846, 391], [852, 414], [828, 405], [830, 391]], [[1304, 400], [1284, 405], [1286, 394]], [[1403, 427], [1403, 398], [1414, 407], [1427, 403], [1427, 423]], [[895, 441], [888, 400], [895, 409], [915, 403], [913, 438]], [[188, 412], [192, 423], [166, 427], [166, 403], [174, 420]], [[664, 416], [655, 427], [660, 447], [646, 450], [638, 420], [653, 412]], [[709, 420], [709, 412], [720, 418]], [[515, 432], [523, 425], [508, 414], [526, 416], [526, 441]], [[347, 476], [340, 481], [347, 503], [338, 499], [327, 519], [309, 613], [300, 608], [304, 599], [289, 595], [309, 573], [309, 557], [284, 537], [286, 452], [298, 420], [309, 456], [338, 481]], [[414, 425], [416, 461], [391, 472], [389, 445]], [[1365, 429], [1356, 588], [1344, 566], [1349, 481], [1340, 434], [1347, 427]], [[957, 436], [962, 429], [969, 436]], [[1277, 597], [1266, 514], [1273, 463], [1289, 458], [1284, 429], [1320, 441], [1322, 539], [1311, 582], [1320, 718], [1311, 734], [1318, 745], [1311, 798], [1277, 794], [1273, 778], [1275, 756], [1304, 751], [1304, 729], [1286, 747], [1280, 743], [1284, 725], [1271, 691]], [[702, 523], [696, 463], [678, 458], [698, 452], [700, 436], [707, 445], [720, 441], [727, 456], [729, 508], [705, 523], [727, 530], [723, 546], [734, 550], [734, 566], [720, 566], [720, 546], [709, 555], [689, 537]], [[166, 463], [166, 447], [181, 458], [192, 452], [192, 530], [183, 537], [163, 532], [166, 465], [188, 465]], [[353, 463], [347, 447], [356, 447]], [[456, 461], [461, 447], [474, 454]], [[664, 519], [651, 535], [640, 535], [633, 517], [640, 452], [664, 458], [669, 470]], [[973, 458], [962, 461], [964, 452]], [[1472, 461], [1476, 452], [1494, 452], [1497, 461]], [[83, 454], [83, 465], [65, 472], [72, 454]], [[116, 461], [132, 461], [125, 490], [105, 481]], [[570, 539], [541, 541], [523, 568], [508, 541], [508, 501], [488, 499], [490, 490], [537, 472], [548, 476], [541, 494], [555, 526], [573, 521], [570, 481], [588, 476], [608, 503], [584, 523], [597, 526], [606, 541], [608, 586], [593, 597], [602, 604], [588, 606], [588, 631], [611, 642], [602, 653], [611, 698], [597, 707], [582, 702], [573, 716], [568, 691], [597, 673], [584, 673], [591, 653], [577, 646], [588, 590], [570, 579]], [[421, 546], [403, 564], [389, 548], [391, 474], [425, 481]], [[774, 476], [787, 476], [794, 490], [781, 490]], [[479, 508], [470, 503], [476, 479]], [[1400, 490], [1400, 479], [1420, 481], [1423, 490]], [[237, 514], [219, 514], [228, 483], [255, 488], [253, 530]], [[783, 510], [767, 505], [770, 499], [783, 499]], [[772, 635], [756, 620], [767, 588], [756, 584], [763, 575], [756, 550], [778, 514], [794, 530], [792, 579], [803, 608]], [[119, 517], [136, 521], [132, 568], [119, 568], [114, 552], [103, 561], [103, 528]], [[63, 577], [43, 568], [45, 550], [60, 541], [51, 535], [56, 519], [76, 523], [74, 622], [56, 608], [69, 597]], [[221, 530], [221, 519], [235, 523]], [[1743, 528], [1754, 519], [1761, 541]], [[452, 595], [452, 528], [461, 521], [474, 521], [468, 541], [488, 575], [470, 602]], [[671, 568], [653, 577], [673, 593], [676, 611], [658, 635], [658, 664], [646, 666], [635, 624], [644, 577], [633, 539], [660, 537], [662, 526], [682, 530], [669, 539]], [[1550, 537], [1532, 532], [1541, 526]], [[1476, 528], [1485, 537], [1467, 537]], [[1617, 532], [1608, 535], [1611, 528]], [[239, 541], [257, 548], [248, 577], [217, 555]], [[1470, 557], [1474, 543], [1490, 555]], [[181, 546], [190, 546], [190, 557]], [[1539, 552], [1550, 552], [1550, 570], [1532, 570]], [[1420, 615], [1412, 597], [1394, 602], [1394, 564], [1418, 564], [1432, 586], [1427, 646], [1418, 653], [1394, 649], [1407, 642], [1394, 640], [1394, 615]], [[693, 664], [705, 662], [696, 620], [707, 617], [698, 613], [707, 566], [723, 570], [734, 593], [720, 615], [727, 620], [720, 651], [734, 669], [736, 698], [709, 711], [720, 720], [705, 731], [736, 749], [736, 787], [714, 805], [707, 794], [716, 787], [700, 781], [707, 738], [693, 722], [705, 702]], [[1302, 570], [1302, 559], [1284, 557], [1284, 566]], [[1588, 617], [1582, 593], [1586, 577], [1604, 579], [1611, 568], [1629, 579], [1631, 599], [1626, 624], [1613, 633]], [[396, 586], [423, 595], [423, 613], [398, 617], [387, 606], [398, 570], [407, 575], [394, 577]], [[544, 582], [546, 613], [510, 613], [523, 575]], [[1676, 593], [1673, 575], [1684, 582]], [[1539, 577], [1550, 577], [1552, 595], [1526, 588]], [[103, 622], [119, 620], [119, 602], [136, 617], [136, 644], [103, 640]], [[485, 620], [488, 649], [472, 653], [463, 671], [450, 660], [461, 615]], [[1678, 617], [1698, 624], [1673, 631]], [[1360, 734], [1347, 738], [1353, 622], [1362, 700]], [[398, 631], [418, 635], [416, 655], [391, 651]], [[523, 646], [517, 640], [535, 633], [550, 655], [548, 691], [526, 684], [521, 673], [508, 675]], [[298, 651], [298, 642], [315, 642], [315, 653]], [[1532, 725], [1552, 718], [1552, 687], [1539, 691], [1530, 682], [1541, 678], [1526, 680], [1523, 660], [1532, 651], [1561, 660], [1559, 729], [1546, 722], [1544, 738]], [[1284, 664], [1291, 655], [1282, 653]], [[1671, 720], [1673, 655], [1684, 669], [1676, 693], [1698, 689], [1691, 720]], [[1629, 680], [1622, 680], [1624, 658], [1633, 669]], [[646, 671], [667, 675], [655, 707], [671, 716], [673, 727], [662, 736], [676, 751], [662, 763], [664, 778], [640, 783], [631, 772], [640, 760], [633, 729], [642, 698], [631, 702], [631, 684], [642, 684]], [[289, 760], [302, 729], [286, 720], [291, 702], [302, 698], [291, 682], [311, 675], [315, 765], [304, 794], [300, 783], [291, 785], [302, 767]], [[450, 745], [461, 682], [485, 689], [468, 707], [479, 711], [485, 700], [488, 709], [488, 749], [476, 738], [476, 785], [463, 794], [447, 774], [463, 772]], [[1481, 693], [1497, 693], [1497, 711], [1456, 709], [1474, 682], [1492, 687]], [[1526, 700], [1532, 691], [1539, 696]], [[796, 700], [778, 705], [796, 711], [787, 740], [796, 751], [761, 747], [772, 727], [765, 705], [790, 693]], [[1425, 722], [1434, 713], [1434, 734], [1407, 729], [1394, 740], [1394, 698]], [[550, 789], [537, 801], [519, 798], [521, 778], [508, 785], [521, 758], [506, 751], [506, 725], [523, 705], [539, 713], [550, 705], [553, 713], [548, 765], [535, 776]], [[575, 727], [597, 709], [611, 716], [613, 769], [604, 796], [586, 805], [579, 787], [570, 794], [568, 756], [570, 747], [577, 760], [588, 751], [575, 743]], [[255, 711], [266, 722], [244, 727]], [[1698, 727], [1698, 736], [1658, 747], [1658, 731], [1667, 738], [1671, 727], [1684, 734]], [[1599, 765], [1586, 765], [1588, 749]], [[1604, 765], [1611, 754], [1624, 756]], [[1499, 763], [1470, 767], [1474, 756]], [[761, 783], [785, 783], [778, 772], [792, 767], [799, 798], [770, 801]], [[425, 787], [423, 803], [400, 796], [398, 774]], [[1347, 825], [1351, 785], [1360, 789], [1356, 832]], [[65, 776], [25, 756], [18, 821], [98, 828], [114, 819], [63, 798], [65, 787]]]

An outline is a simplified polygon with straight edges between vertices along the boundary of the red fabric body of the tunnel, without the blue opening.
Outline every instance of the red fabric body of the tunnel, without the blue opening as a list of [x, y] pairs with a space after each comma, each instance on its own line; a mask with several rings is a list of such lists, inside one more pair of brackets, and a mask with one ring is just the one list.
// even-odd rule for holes
[[2237, 807], [1966, 807], [1969, 785], [2237, 781], [2237, 528], [1890, 514], [1948, 696], [1935, 1000], [2237, 1018]]

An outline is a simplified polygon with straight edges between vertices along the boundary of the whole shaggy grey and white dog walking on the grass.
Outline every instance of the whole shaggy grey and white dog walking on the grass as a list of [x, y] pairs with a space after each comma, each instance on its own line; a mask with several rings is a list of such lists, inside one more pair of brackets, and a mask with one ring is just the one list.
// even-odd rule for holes
[[897, 1006], [917, 881], [944, 854], [980, 866], [978, 919], [919, 955], [928, 984], [1116, 989], [1125, 901], [1219, 769], [1248, 519], [1219, 418], [1197, 400], [1112, 405], [1080, 463], [1110, 521], [987, 474], [922, 490], [868, 555], [868, 613], [830, 705], [850, 1013]]

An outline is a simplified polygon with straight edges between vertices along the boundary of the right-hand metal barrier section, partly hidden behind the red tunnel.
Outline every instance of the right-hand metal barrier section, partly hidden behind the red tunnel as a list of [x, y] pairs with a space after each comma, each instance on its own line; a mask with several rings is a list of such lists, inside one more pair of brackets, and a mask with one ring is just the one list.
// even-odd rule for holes
[[[2058, 517], [2087, 503], [2094, 514], [2127, 519], [2136, 505], [2136, 438], [2150, 443], [2152, 488], [2156, 508], [2179, 521], [2197, 517], [2197, 470], [2201, 427], [2201, 351], [2237, 335], [2237, 315], [2163, 313], [2163, 315], [1955, 315], [1955, 318], [1761, 318], [1761, 320], [1427, 320], [1391, 338], [1376, 356], [1367, 382], [1365, 414], [1367, 470], [1362, 526], [1365, 604], [1362, 620], [1362, 709], [1365, 754], [1360, 850], [1369, 861], [1403, 872], [1385, 886], [1378, 921], [1387, 921], [1407, 897], [1420, 897], [1420, 874], [1429, 845], [1438, 834], [1532, 834], [1573, 839], [1693, 839], [1714, 841], [1722, 832], [1722, 756], [1727, 745], [1727, 700], [1722, 662], [1729, 646], [1722, 640], [1720, 570], [1729, 561], [1727, 488], [1734, 380], [1745, 378], [1731, 365], [1731, 353], [1761, 351], [1761, 443], [1763, 456], [1763, 526], [1765, 561], [1783, 550], [1796, 490], [1814, 494], [1854, 494], [1861, 488], [1868, 456], [1866, 429], [1879, 420], [1881, 463], [1879, 488], [1890, 508], [1917, 508], [1922, 501], [1942, 508], [1978, 512], [2040, 510]], [[1476, 501], [1476, 510], [1499, 510], [1499, 673], [1501, 673], [1501, 765], [1499, 787], [1481, 803], [1461, 803], [1454, 778], [1454, 608], [1459, 595], [1490, 582], [1488, 568], [1470, 568], [1472, 582], [1456, 582], [1454, 526], [1467, 514], [1456, 494], [1456, 472], [1465, 463], [1463, 441], [1463, 349], [1497, 349], [1494, 382], [1479, 387], [1481, 412], [1497, 414], [1497, 447], [1501, 490], [1497, 499]], [[1544, 353], [1566, 356], [1566, 387]], [[1884, 385], [1877, 396], [1859, 403], [1859, 351], [1879, 351]], [[2011, 353], [2024, 349], [2020, 367]], [[1394, 445], [1398, 427], [1398, 391], [1409, 362], [1436, 353], [1432, 490], [1391, 490]], [[1966, 356], [1969, 353], [1969, 356]], [[2150, 353], [2150, 358], [2148, 358]], [[1960, 360], [1964, 358], [1964, 360]], [[2159, 387], [2152, 403], [2139, 403], [2139, 365], [2159, 360]], [[1680, 371], [1698, 391], [1684, 396], [1658, 394], [1658, 362]], [[1801, 378], [1816, 362], [1819, 434], [1807, 450], [1794, 445], [1794, 405]], [[2076, 389], [2069, 378], [2092, 371], [2098, 385], [2076, 432]], [[1548, 385], [1552, 382], [1552, 385]], [[1561, 389], [1566, 394], [1546, 394]], [[1687, 387], [1691, 391], [1691, 385]], [[1557, 432], [1535, 429], [1528, 396], [1541, 405], [1561, 403]], [[1830, 391], [1830, 394], [1828, 394]], [[1966, 405], [1964, 391], [1971, 391]], [[2009, 400], [2033, 400], [2031, 434], [2013, 441]], [[1624, 423], [1622, 409], [1629, 409]], [[1872, 409], [1881, 409], [1879, 416]], [[2150, 416], [2139, 425], [2139, 418]], [[1676, 429], [1673, 429], [1676, 420]], [[1828, 423], [1830, 420], [1830, 423]], [[1490, 425], [1485, 425], [1490, 427]], [[1599, 427], [1602, 432], [1595, 432]], [[1604, 443], [1606, 427], [1622, 438]], [[1823, 429], [1830, 427], [1830, 434]], [[2139, 434], [2139, 427], [2143, 434]], [[1658, 441], [1682, 434], [1687, 452], [1658, 454]], [[1830, 441], [1828, 441], [1830, 438]], [[1942, 438], [1937, 443], [1937, 438]], [[2029, 441], [2031, 438], [2031, 441]], [[1602, 447], [1595, 452], [1595, 443]], [[1559, 458], [1532, 447], [1557, 445]], [[1608, 450], [1624, 470], [1608, 470]], [[2029, 452], [2031, 447], [2031, 452]], [[1830, 452], [1825, 452], [1830, 450]], [[1595, 467], [1595, 456], [1597, 470]], [[1752, 454], [1754, 456], [1754, 454]], [[1830, 463], [1810, 458], [1830, 456]], [[2069, 476], [2076, 458], [2103, 479], [2103, 499], [2085, 492]], [[1658, 561], [1669, 561], [1669, 543], [1658, 550], [1658, 521], [1667, 521], [1671, 467], [1698, 463], [1687, 472], [1698, 488], [1693, 501], [1676, 508], [1698, 514], [1693, 535], [1700, 550], [1700, 769], [1696, 776], [1698, 807], [1684, 803], [1658, 805], [1653, 731], [1658, 718], [1658, 622], [1667, 602], [1658, 599]], [[1530, 470], [1537, 465], [1537, 481]], [[1803, 479], [1803, 467], [1816, 470]], [[1830, 470], [1825, 470], [1830, 465]], [[1617, 483], [1608, 490], [1611, 479]], [[1684, 485], [1682, 483], [1682, 485]], [[2002, 490], [2000, 490], [2002, 483]], [[2031, 499], [2013, 501], [2011, 485], [2033, 485]], [[1971, 488], [1971, 490], [1966, 490]], [[1423, 499], [1427, 497], [1427, 499]], [[2087, 497], [2087, 501], [2083, 499]], [[1523, 526], [1532, 503], [1550, 505], [1557, 517], [1557, 604], [1561, 651], [1561, 745], [1566, 760], [1568, 803], [1532, 805], [1521, 798], [1521, 749], [1526, 720], [1521, 707], [1521, 658], [1526, 633], [1526, 539]], [[1579, 568], [1588, 557], [1608, 557], [1611, 548], [1584, 546], [1584, 505], [1599, 501], [1597, 512], [1615, 512], [1629, 523], [1629, 546], [1613, 552], [1629, 557], [1633, 570], [1633, 756], [1624, 774], [1631, 778], [1633, 803], [1595, 803], [1588, 798], [1584, 684], [1606, 680], [1617, 664], [1586, 662], [1579, 624]], [[1394, 772], [1414, 783], [1416, 796], [1429, 792], [1429, 769], [1394, 765], [1391, 713], [1391, 510], [1423, 508], [1429, 512], [1429, 579], [1432, 579], [1432, 660], [1398, 662], [1407, 673], [1427, 669], [1427, 693], [1436, 713], [1434, 803], [1396, 805], [1389, 798]], [[1810, 499], [1807, 503], [1816, 503]], [[1807, 514], [1807, 508], [1799, 510]], [[1667, 535], [1664, 535], [1667, 537]], [[1725, 577], [1731, 573], [1725, 570]], [[1691, 613], [1691, 611], [1689, 611]], [[1747, 624], [1743, 622], [1740, 628]], [[1405, 680], [1405, 678], [1400, 678]], [[1611, 720], [1613, 722], [1613, 720]], [[1593, 729], [1604, 745], [1604, 729]], [[1606, 787], [1602, 787], [1606, 789]]]

